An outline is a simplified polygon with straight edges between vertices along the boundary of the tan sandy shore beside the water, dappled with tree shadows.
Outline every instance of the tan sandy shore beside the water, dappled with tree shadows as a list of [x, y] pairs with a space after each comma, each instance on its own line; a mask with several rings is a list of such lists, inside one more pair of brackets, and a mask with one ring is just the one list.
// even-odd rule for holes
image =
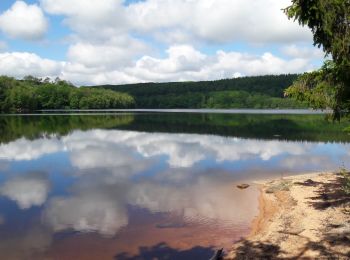
[[350, 259], [350, 197], [339, 174], [261, 182], [259, 215], [227, 259]]

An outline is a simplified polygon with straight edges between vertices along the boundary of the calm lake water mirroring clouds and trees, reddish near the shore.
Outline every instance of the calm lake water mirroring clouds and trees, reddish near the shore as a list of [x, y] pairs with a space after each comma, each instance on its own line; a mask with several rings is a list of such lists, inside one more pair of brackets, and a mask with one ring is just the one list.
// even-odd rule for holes
[[249, 232], [236, 183], [350, 167], [325, 115], [0, 116], [1, 259], [209, 259]]

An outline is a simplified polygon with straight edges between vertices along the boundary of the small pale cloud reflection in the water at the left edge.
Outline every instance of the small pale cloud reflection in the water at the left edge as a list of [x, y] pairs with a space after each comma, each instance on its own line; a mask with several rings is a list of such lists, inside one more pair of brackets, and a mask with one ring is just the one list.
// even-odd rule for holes
[[46, 174], [34, 173], [6, 181], [0, 187], [0, 194], [16, 201], [21, 209], [41, 206], [50, 190]]

